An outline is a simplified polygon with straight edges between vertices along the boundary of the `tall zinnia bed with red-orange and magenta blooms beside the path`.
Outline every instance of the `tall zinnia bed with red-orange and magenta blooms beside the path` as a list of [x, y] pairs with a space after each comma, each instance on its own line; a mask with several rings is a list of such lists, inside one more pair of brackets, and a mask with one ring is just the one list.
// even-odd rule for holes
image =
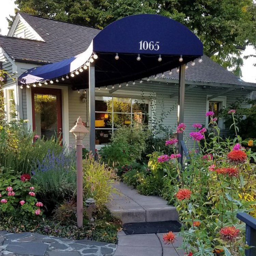
[[[243, 256], [245, 255], [245, 224], [236, 218], [239, 212], [255, 214], [256, 165], [252, 163], [255, 153], [244, 143], [236, 126], [236, 110], [230, 110], [232, 127], [236, 137], [222, 139], [220, 130], [210, 116], [212, 130], [209, 142], [205, 139], [206, 129], [194, 124], [189, 137], [194, 141], [190, 159], [182, 170], [179, 154], [160, 156], [159, 161], [168, 163], [173, 158], [177, 175], [172, 178], [172, 194], [179, 212], [185, 255], [193, 256]], [[180, 124], [177, 132], [184, 133], [186, 125]], [[203, 142], [203, 143], [200, 143]], [[167, 142], [176, 152], [173, 141]], [[179, 178], [179, 179], [177, 179]], [[170, 176], [171, 179], [171, 176]], [[172, 244], [175, 235], [170, 232], [163, 241]]]

